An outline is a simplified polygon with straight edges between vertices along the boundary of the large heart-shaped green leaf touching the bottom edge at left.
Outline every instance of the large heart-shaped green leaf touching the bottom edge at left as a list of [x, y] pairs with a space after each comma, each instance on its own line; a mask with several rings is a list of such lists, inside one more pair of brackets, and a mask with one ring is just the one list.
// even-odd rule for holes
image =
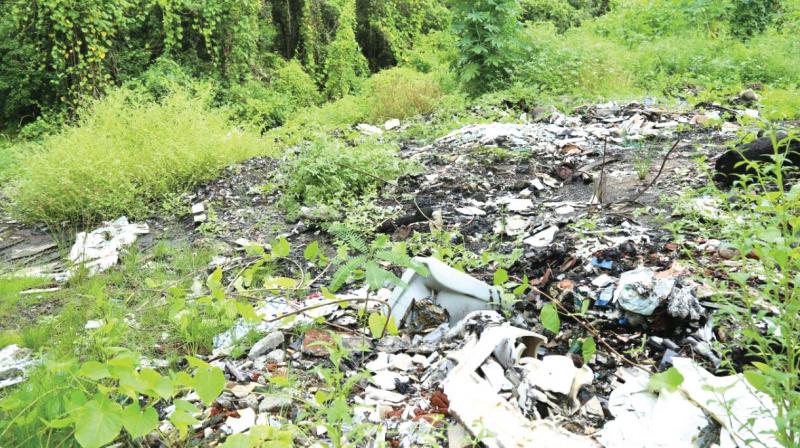
[[83, 448], [99, 448], [114, 441], [122, 430], [122, 408], [104, 397], [86, 403], [75, 425], [75, 440]]

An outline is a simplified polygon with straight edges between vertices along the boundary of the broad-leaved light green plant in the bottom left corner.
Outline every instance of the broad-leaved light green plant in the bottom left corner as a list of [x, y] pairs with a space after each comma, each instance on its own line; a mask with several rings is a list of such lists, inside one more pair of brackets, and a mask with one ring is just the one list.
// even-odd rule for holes
[[[116, 353], [114, 353], [116, 351]], [[197, 358], [188, 357], [188, 372], [163, 375], [156, 370], [138, 367], [139, 355], [127, 350], [111, 350], [107, 361], [87, 361], [77, 366], [74, 361], [50, 361], [45, 369], [50, 375], [68, 372], [69, 379], [59, 384], [48, 397], [50, 405], [31, 412], [37, 398], [26, 398], [24, 388], [0, 402], [0, 413], [8, 417], [0, 424], [0, 438], [10, 430], [26, 427], [31, 417], [43, 419], [45, 428], [57, 432], [72, 428], [74, 438], [83, 448], [99, 448], [112, 443], [124, 431], [127, 438], [137, 440], [154, 431], [159, 424], [157, 403], [171, 402], [175, 410], [169, 417], [182, 437], [198, 421], [200, 410], [190, 402], [175, 397], [194, 390], [210, 405], [222, 392], [225, 376], [222, 371]], [[69, 393], [66, 390], [70, 390]], [[24, 433], [19, 433], [24, 437]], [[17, 440], [23, 444], [24, 440]], [[19, 445], [17, 445], [19, 446]]]

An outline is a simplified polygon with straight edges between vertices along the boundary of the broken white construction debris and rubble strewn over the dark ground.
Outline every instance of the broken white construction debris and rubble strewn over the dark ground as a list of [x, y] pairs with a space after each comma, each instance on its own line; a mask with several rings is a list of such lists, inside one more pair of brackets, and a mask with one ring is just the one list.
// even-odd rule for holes
[[[257, 310], [263, 321], [242, 320], [214, 339], [208, 360], [224, 369], [229, 383], [197, 416], [193, 443], [213, 446], [257, 425], [297, 425], [310, 428], [298, 445], [339, 445], [304, 409], [319, 406], [316, 395], [325, 387], [315, 369], [330, 367], [330, 350], [342, 347], [348, 355], [340, 367], [355, 380], [347, 403], [352, 420], [342, 433], [372, 424], [359, 446], [460, 448], [479, 440], [489, 447], [729, 448], [754, 437], [778, 446], [767, 434], [774, 426], [770, 400], [740, 376], [709, 373], [719, 373], [720, 365], [708, 301], [713, 292], [680, 263], [686, 247], [630, 213], [690, 182], [705, 182], [687, 162], [698, 152], [718, 152], [707, 142], [730, 139], [738, 126], [701, 128], [719, 117], [638, 103], [577, 112], [467, 126], [429, 146], [406, 146], [402, 155], [425, 172], [386, 188], [385, 202], [377, 205], [394, 218], [376, 231], [394, 240], [451, 231], [453, 244], [512, 259], [508, 284], [487, 283], [495, 272], [491, 263], [464, 273], [422, 257], [430, 275], [409, 270], [401, 286], [387, 285], [371, 302], [341, 305], [368, 295], [357, 284], [335, 300], [319, 292], [299, 300], [266, 297]], [[675, 141], [677, 151], [667, 152]], [[646, 182], [632, 163], [643, 145], [658, 156]], [[213, 212], [232, 252], [266, 244], [266, 234], [246, 231], [255, 220], [282, 219], [274, 208], [280, 192], [253, 184], [268, 177], [273, 162], [250, 163], [189, 198], [190, 224], [208, 222]], [[212, 202], [222, 208], [210, 210]], [[713, 213], [713, 204], [699, 205]], [[591, 226], [577, 225], [586, 220]], [[300, 247], [312, 226], [289, 228], [284, 235]], [[82, 234], [70, 257], [92, 271], [107, 269], [147, 231], [111, 223]], [[724, 242], [686, 244], [702, 256], [725, 257]], [[215, 260], [210, 269], [233, 261], [241, 257]], [[530, 289], [509, 303], [504, 292], [523, 278]], [[320, 280], [315, 288], [327, 279]], [[548, 304], [557, 304], [563, 319], [557, 333], [540, 319]], [[399, 334], [373, 338], [362, 325], [373, 311], [391, 315]], [[315, 323], [323, 329], [307, 330]], [[254, 333], [260, 338], [251, 341]], [[580, 341], [588, 337], [598, 347], [584, 359]], [[655, 375], [668, 368], [683, 381], [654, 387]], [[276, 388], [276, 379], [290, 372], [299, 372], [299, 385]], [[360, 378], [362, 372], [369, 375]], [[184, 398], [201, 405], [196, 394]], [[160, 415], [160, 432], [148, 437], [152, 446], [173, 430], [169, 412]], [[742, 416], [748, 422], [736, 421]]]

